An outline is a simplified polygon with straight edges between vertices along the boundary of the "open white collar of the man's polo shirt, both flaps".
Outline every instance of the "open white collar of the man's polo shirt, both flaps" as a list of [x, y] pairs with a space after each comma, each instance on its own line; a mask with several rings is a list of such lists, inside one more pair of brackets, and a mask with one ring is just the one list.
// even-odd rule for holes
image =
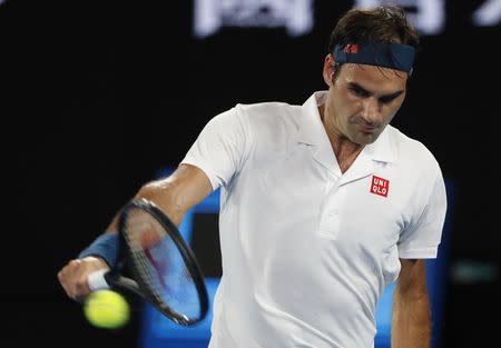
[[[321, 120], [318, 107], [325, 102], [327, 91], [315, 91], [302, 106], [299, 127], [296, 139], [311, 146], [328, 141], [327, 133]], [[396, 160], [395, 129], [387, 125], [376, 141], [365, 146], [362, 152], [375, 161], [393, 162]]]

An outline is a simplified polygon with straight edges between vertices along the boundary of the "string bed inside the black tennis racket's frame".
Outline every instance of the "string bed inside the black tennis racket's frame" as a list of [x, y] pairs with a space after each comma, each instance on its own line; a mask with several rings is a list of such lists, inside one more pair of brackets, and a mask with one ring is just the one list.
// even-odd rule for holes
[[125, 236], [141, 281], [157, 305], [187, 319], [199, 317], [198, 289], [178, 245], [163, 225], [144, 211], [131, 211]]

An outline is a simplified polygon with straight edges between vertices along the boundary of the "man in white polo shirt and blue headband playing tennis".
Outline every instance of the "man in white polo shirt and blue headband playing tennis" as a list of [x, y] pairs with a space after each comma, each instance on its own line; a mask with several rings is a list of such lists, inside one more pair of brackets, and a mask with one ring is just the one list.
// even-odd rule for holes
[[[137, 192], [179, 225], [222, 187], [210, 347], [372, 347], [395, 279], [392, 346], [430, 346], [424, 259], [436, 257], [445, 188], [432, 153], [389, 126], [418, 44], [399, 8], [347, 11], [324, 60], [327, 91], [216, 116], [169, 178]], [[59, 272], [70, 297], [114, 262], [116, 229]]]

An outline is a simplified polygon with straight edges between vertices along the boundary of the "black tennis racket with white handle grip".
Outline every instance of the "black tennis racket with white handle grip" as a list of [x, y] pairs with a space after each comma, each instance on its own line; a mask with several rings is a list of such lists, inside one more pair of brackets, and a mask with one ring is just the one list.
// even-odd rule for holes
[[170, 219], [151, 201], [131, 201], [120, 212], [118, 232], [117, 266], [90, 274], [90, 290], [130, 291], [179, 325], [203, 320], [208, 310], [204, 277]]

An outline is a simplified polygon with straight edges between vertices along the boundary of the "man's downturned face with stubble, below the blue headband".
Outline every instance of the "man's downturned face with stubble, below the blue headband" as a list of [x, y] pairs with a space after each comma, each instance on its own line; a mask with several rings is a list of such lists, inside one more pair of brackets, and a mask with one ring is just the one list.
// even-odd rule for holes
[[394, 69], [345, 63], [335, 80], [327, 56], [324, 79], [328, 95], [323, 109], [327, 133], [356, 145], [374, 142], [405, 99], [407, 73]]

